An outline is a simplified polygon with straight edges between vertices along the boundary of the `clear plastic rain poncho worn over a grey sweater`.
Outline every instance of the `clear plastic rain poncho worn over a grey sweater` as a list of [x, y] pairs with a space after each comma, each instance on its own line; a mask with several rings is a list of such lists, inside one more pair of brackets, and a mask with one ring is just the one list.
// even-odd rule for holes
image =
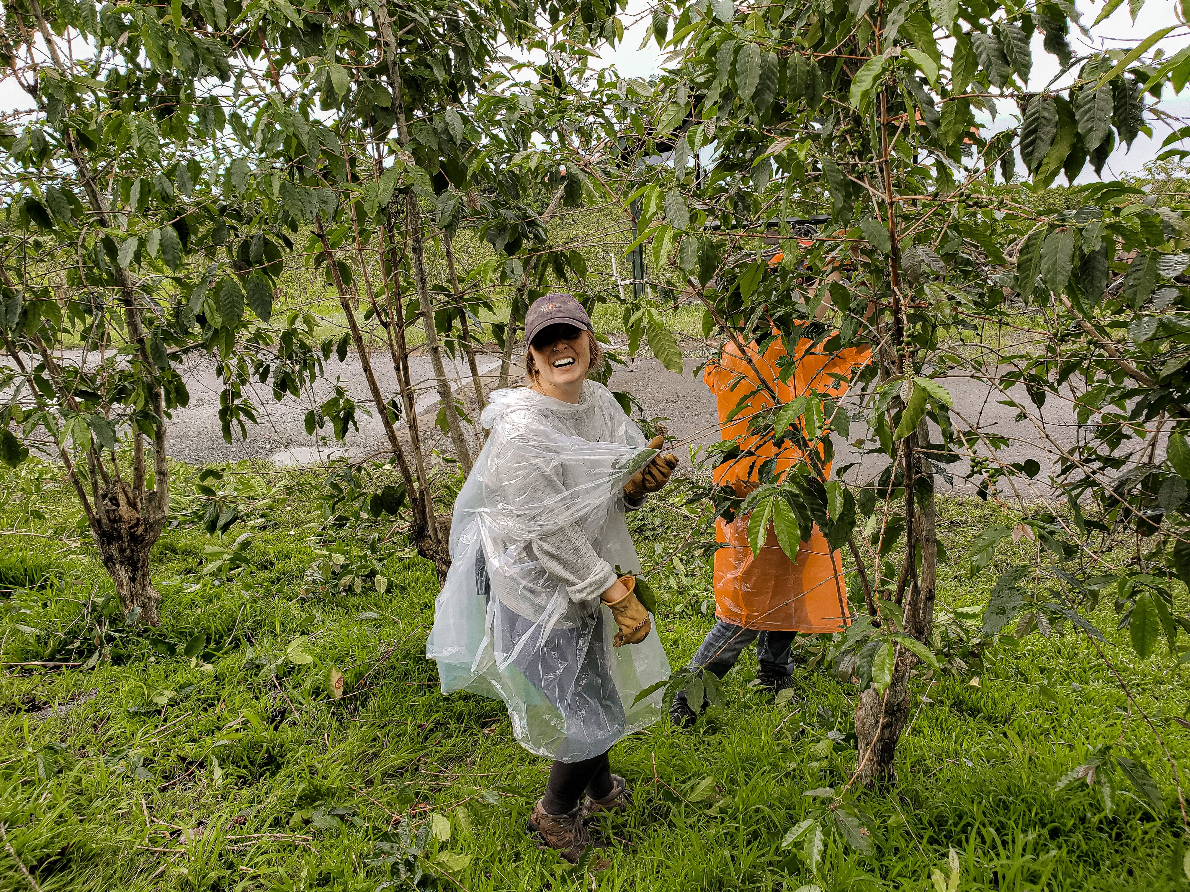
[[483, 427], [491, 434], [455, 502], [426, 657], [444, 693], [507, 703], [530, 752], [600, 755], [660, 717], [662, 691], [633, 701], [670, 674], [656, 628], [612, 647], [615, 620], [600, 601], [616, 566], [640, 572], [624, 484], [656, 451], [590, 381], [577, 404], [497, 390]]

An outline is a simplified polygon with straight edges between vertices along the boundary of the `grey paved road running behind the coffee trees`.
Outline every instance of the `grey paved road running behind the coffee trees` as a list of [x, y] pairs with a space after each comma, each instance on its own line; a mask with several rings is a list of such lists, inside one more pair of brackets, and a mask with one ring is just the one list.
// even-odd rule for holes
[[[69, 353], [64, 359], [77, 362], [77, 358]], [[455, 379], [456, 394], [466, 398], [466, 395], [472, 392], [472, 388], [465, 363], [452, 363], [449, 357], [446, 357], [446, 362], [447, 371]], [[656, 359], [641, 357], [631, 366], [615, 371], [610, 387], [613, 390], [627, 390], [640, 401], [643, 412], [634, 413], [634, 415], [668, 419], [665, 423], [669, 432], [683, 446], [706, 446], [719, 440], [719, 426], [714, 396], [702, 383], [701, 373], [696, 373], [702, 362], [703, 357], [701, 356], [688, 356], [685, 371], [678, 376], [664, 369]], [[433, 426], [438, 412], [438, 394], [433, 385], [430, 359], [426, 356], [413, 356], [409, 363], [418, 391], [420, 427], [424, 432], [427, 431], [432, 434], [431, 442], [434, 448], [449, 454], [451, 452], [449, 438]], [[499, 356], [481, 356], [480, 371], [487, 385], [495, 384], [499, 377]], [[519, 356], [515, 368], [520, 369]], [[194, 464], [268, 458], [277, 465], [305, 465], [315, 464], [337, 454], [362, 458], [384, 453], [388, 450], [378, 419], [375, 414], [369, 416], [364, 413], [365, 409], [370, 408], [371, 398], [362, 366], [355, 353], [349, 354], [343, 363], [332, 357], [326, 363], [325, 378], [315, 384], [312, 392], [305, 392], [300, 398], [287, 397], [278, 403], [273, 398], [269, 385], [256, 384], [250, 388], [249, 392], [245, 392], [245, 397], [256, 404], [259, 425], [249, 428], [246, 440], [234, 436], [230, 445], [224, 442], [219, 431], [218, 410], [221, 385], [214, 375], [213, 364], [207, 358], [195, 354], [188, 357], [178, 369], [189, 388], [190, 403], [184, 409], [176, 410], [169, 425], [167, 444], [173, 458]], [[384, 394], [395, 392], [396, 375], [387, 354], [381, 352], [374, 354], [374, 369]], [[336, 384], [346, 388], [359, 406], [357, 410], [358, 431], [351, 431], [342, 444], [331, 436], [330, 425], [321, 432], [315, 432], [313, 436], [305, 431], [306, 412], [325, 401], [333, 392]], [[1029, 421], [1016, 420], [1017, 410], [1015, 408], [1000, 404], [998, 401], [1003, 398], [1001, 394], [973, 378], [952, 378], [945, 384], [954, 397], [957, 410], [964, 417], [978, 423], [988, 433], [996, 433], [1010, 439], [1010, 446], [1007, 453], [1003, 453], [1009, 460], [1025, 461], [1033, 458], [1041, 465], [1038, 480], [1047, 478], [1050, 456], [1040, 446], [1040, 434]], [[1013, 392], [1014, 396], [1025, 401], [1023, 389], [1020, 390], [1020, 394]], [[474, 407], [474, 395], [468, 402]], [[856, 413], [854, 398], [848, 398], [846, 404], [852, 413]], [[1065, 447], [1073, 441], [1077, 426], [1067, 401], [1054, 401], [1051, 397], [1045, 409], [1036, 414], [1044, 417], [1050, 433], [1060, 446]], [[958, 423], [958, 419], [956, 422]], [[464, 425], [465, 428], [466, 425]], [[835, 466], [853, 465], [846, 475], [850, 480], [868, 480], [878, 473], [888, 461], [881, 456], [864, 456], [860, 450], [851, 445], [866, 438], [868, 431], [864, 425], [856, 422], [852, 423], [848, 435], [851, 442], [837, 441], [839, 453]], [[468, 439], [474, 450], [474, 433]], [[685, 459], [687, 450], [678, 451]], [[683, 461], [683, 465], [689, 466], [687, 461]], [[948, 465], [946, 470], [954, 478], [956, 491], [975, 491], [970, 483], [962, 479], [967, 471], [966, 461]], [[942, 489], [945, 491], [947, 486], [944, 484]], [[1034, 495], [1040, 496], [1047, 492], [1047, 486], [1035, 485]]]

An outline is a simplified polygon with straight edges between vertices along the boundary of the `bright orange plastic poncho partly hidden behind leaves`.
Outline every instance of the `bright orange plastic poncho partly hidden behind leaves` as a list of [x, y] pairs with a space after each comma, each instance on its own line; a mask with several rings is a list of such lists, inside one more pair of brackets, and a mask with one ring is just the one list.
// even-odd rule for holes
[[[754, 344], [747, 347], [752, 362], [782, 402], [789, 402], [810, 388], [820, 394], [843, 396], [846, 385], [837, 384], [829, 373], [848, 375], [864, 360], [868, 351], [847, 348], [826, 356], [813, 352], [813, 341], [806, 338], [798, 340], [796, 371], [790, 382], [783, 384], [777, 378], [777, 360], [785, 356], [782, 341], [775, 340], [764, 356], [758, 353]], [[758, 383], [756, 372], [744, 362], [734, 344], [725, 347], [721, 363], [707, 365], [702, 379], [716, 396], [725, 440], [746, 433], [749, 416], [774, 404], [764, 390], [758, 390], [747, 400], [746, 409], [737, 413], [729, 423], [726, 421], [740, 397], [756, 389]], [[758, 439], [751, 436], [740, 441], [745, 450], [756, 448], [756, 456], [726, 461], [716, 467], [713, 475], [715, 485], [756, 483], [757, 469], [764, 459], [777, 456], [776, 473], [781, 475], [802, 457], [802, 452], [790, 445], [777, 450], [771, 440], [756, 446]], [[846, 624], [850, 610], [843, 580], [843, 557], [839, 552], [831, 554], [818, 526], [814, 526], [810, 540], [798, 546], [795, 564], [781, 549], [771, 524], [760, 555], [754, 558], [749, 545], [747, 523], [749, 516], [737, 516], [731, 523], [722, 517], [715, 521], [715, 539], [728, 546], [715, 552], [715, 615], [747, 629], [774, 632], [831, 633]]]

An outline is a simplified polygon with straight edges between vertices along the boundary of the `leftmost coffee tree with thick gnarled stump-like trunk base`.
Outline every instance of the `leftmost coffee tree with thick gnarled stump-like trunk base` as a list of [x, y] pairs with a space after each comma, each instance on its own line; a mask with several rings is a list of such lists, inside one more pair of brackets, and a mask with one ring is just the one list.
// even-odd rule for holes
[[171, 360], [215, 357], [228, 441], [255, 420], [250, 373], [271, 372], [281, 398], [318, 372], [308, 316], [264, 326], [280, 247], [233, 247], [252, 214], [243, 169], [220, 164], [237, 13], [6, 7], [5, 77], [30, 108], [0, 134], [0, 457], [63, 463], [133, 622], [159, 622], [149, 554], [169, 510], [169, 415], [189, 398]]

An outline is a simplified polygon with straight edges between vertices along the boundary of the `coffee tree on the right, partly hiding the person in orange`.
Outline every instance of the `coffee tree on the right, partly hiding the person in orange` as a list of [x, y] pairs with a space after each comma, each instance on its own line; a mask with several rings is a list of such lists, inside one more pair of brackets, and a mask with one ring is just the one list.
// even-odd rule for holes
[[[770, 391], [770, 408], [749, 419], [751, 436], [791, 444], [806, 461], [783, 477], [759, 464], [762, 485], [716, 500], [721, 514], [751, 513], [754, 548], [774, 526], [795, 557], [818, 524], [858, 561], [866, 610], [837, 649], [862, 687], [862, 784], [894, 779], [910, 671], [939, 667], [935, 483], [950, 463], [971, 459], [982, 495], [1019, 496], [1023, 513], [983, 532], [966, 555], [972, 573], [1004, 539], [1039, 545], [1029, 572], [1044, 582], [1027, 591], [1022, 567], [1002, 576], [985, 637], [1065, 624], [1098, 646], [1088, 613], [1104, 593], [1141, 655], [1190, 628], [1171, 599], [1175, 580], [1190, 579], [1183, 208], [1117, 182], [1071, 190], [1070, 209], [1046, 209], [1040, 195], [1059, 176], [1101, 174], [1151, 132], [1163, 92], [1190, 76], [1190, 51], [1153, 51], [1167, 29], [1127, 52], [1078, 55], [1070, 33], [1082, 26], [1067, 4], [958, 0], [703, 0], [660, 5], [652, 19], [677, 59], [649, 128], [671, 162], [637, 193], [658, 277], [700, 299], [704, 331], [728, 344], [764, 352], [781, 339], [782, 379], [795, 357], [840, 360], [791, 402]], [[1031, 84], [1038, 32], [1069, 87]], [[977, 112], [1009, 102], [1013, 126], [977, 126]], [[690, 159], [712, 143], [696, 176]], [[831, 221], [795, 233], [789, 218], [807, 213]], [[1022, 302], [1039, 320], [1028, 346], [954, 348], [987, 322], [1012, 323]], [[1035, 425], [1053, 456], [1048, 480], [1038, 463], [1002, 458], [1007, 440], [954, 406], [945, 379], [957, 373], [987, 381]], [[862, 415], [832, 397], [844, 387], [863, 397]], [[758, 396], [756, 382], [739, 394]], [[1047, 397], [1076, 401], [1086, 426], [1076, 446], [1060, 446], [1036, 412]], [[852, 421], [885, 465], [858, 484], [831, 464]], [[718, 450], [750, 460], [739, 444]], [[1125, 544], [1130, 558], [1108, 554]]]

